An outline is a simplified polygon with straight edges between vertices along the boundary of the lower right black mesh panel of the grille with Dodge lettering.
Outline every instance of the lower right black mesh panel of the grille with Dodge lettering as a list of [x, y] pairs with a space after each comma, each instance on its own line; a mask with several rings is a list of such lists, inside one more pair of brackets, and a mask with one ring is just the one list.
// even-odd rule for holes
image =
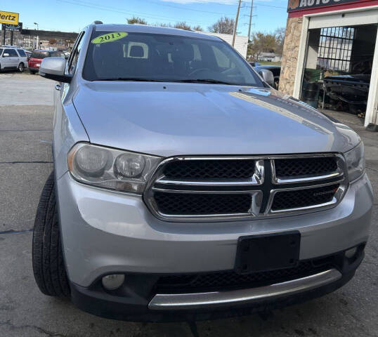
[[304, 190], [280, 191], [274, 196], [272, 209], [273, 211], [279, 211], [324, 204], [332, 200], [337, 188], [339, 188], [339, 184]]

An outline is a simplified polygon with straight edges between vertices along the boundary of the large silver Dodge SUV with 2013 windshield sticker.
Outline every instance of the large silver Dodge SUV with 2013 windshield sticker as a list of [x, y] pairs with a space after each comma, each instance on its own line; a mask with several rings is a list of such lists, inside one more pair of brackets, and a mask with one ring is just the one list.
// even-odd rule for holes
[[346, 284], [372, 211], [363, 143], [218, 37], [94, 23], [59, 81], [33, 267], [115, 319], [209, 319]]

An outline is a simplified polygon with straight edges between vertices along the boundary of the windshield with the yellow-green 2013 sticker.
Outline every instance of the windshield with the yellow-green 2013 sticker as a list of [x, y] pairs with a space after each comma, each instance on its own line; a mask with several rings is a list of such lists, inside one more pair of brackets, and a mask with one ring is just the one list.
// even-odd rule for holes
[[93, 32], [83, 77], [263, 86], [226, 42], [166, 34]]

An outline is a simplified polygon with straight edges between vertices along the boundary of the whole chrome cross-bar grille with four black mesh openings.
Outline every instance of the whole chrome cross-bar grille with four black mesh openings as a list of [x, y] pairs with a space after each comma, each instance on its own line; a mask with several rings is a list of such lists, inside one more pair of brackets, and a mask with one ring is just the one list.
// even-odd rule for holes
[[335, 206], [347, 187], [341, 154], [174, 157], [144, 199], [162, 220], [261, 218]]

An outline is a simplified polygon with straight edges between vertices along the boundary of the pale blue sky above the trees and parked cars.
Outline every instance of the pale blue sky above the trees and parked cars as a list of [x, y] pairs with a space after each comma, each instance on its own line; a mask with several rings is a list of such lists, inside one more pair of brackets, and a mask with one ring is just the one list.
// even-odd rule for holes
[[[0, 10], [20, 13], [24, 28], [79, 32], [101, 20], [104, 23], [126, 23], [138, 16], [148, 24], [174, 24], [185, 21], [200, 25], [204, 31], [226, 15], [235, 18], [237, 0], [1, 0]], [[238, 34], [247, 36], [252, 0], [243, 0]], [[273, 32], [285, 27], [287, 0], [254, 0], [252, 32]]]

